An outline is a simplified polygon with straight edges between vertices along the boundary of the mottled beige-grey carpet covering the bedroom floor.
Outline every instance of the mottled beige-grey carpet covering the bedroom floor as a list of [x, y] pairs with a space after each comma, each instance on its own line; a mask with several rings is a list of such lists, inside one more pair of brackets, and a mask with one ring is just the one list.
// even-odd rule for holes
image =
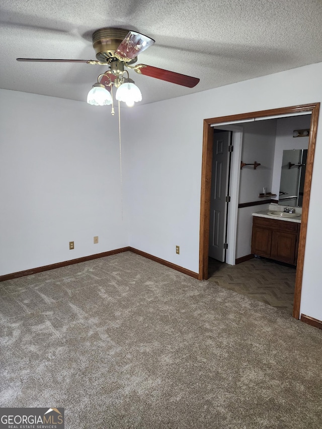
[[2, 407], [66, 429], [322, 427], [322, 331], [131, 252], [0, 283]]

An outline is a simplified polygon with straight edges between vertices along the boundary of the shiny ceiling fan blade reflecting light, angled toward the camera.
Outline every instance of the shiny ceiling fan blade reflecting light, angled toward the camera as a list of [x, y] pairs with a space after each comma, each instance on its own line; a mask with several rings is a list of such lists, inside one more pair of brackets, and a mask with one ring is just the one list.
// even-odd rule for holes
[[143, 52], [149, 46], [153, 45], [154, 42], [155, 40], [144, 36], [144, 34], [129, 31], [116, 49], [115, 56], [123, 61], [126, 61], [127, 59], [131, 60], [137, 57], [139, 53]]

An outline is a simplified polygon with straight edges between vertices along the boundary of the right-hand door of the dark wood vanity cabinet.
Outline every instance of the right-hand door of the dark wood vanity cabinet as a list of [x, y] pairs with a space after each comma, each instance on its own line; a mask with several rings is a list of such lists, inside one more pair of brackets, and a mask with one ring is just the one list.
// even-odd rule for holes
[[296, 264], [297, 234], [272, 232], [271, 258], [287, 264]]

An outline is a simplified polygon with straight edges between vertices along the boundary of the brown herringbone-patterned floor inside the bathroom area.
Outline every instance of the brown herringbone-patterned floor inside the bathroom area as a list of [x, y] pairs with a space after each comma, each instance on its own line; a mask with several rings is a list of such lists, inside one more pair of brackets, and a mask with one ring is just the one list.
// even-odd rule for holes
[[237, 265], [209, 258], [209, 281], [292, 314], [296, 267], [254, 258]]

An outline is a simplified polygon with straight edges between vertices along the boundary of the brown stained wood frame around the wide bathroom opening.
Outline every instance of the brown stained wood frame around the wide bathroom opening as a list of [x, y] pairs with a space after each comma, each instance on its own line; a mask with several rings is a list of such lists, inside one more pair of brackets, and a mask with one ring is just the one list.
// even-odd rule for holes
[[[200, 240], [199, 240], [199, 280], [208, 279], [208, 245], [209, 245], [209, 216], [210, 216], [210, 186], [212, 169], [212, 147], [213, 132], [211, 125], [220, 124], [224, 126], [225, 122], [252, 120], [254, 118], [264, 118], [278, 115], [292, 115], [301, 112], [311, 112], [310, 134], [307, 150], [307, 164], [304, 183], [304, 196], [302, 205], [301, 229], [298, 245], [293, 317], [299, 319], [300, 300], [302, 289], [304, 252], [306, 241], [306, 229], [308, 218], [308, 207], [310, 200], [314, 151], [316, 142], [317, 121], [320, 103], [312, 103], [298, 106], [282, 107], [277, 109], [262, 110], [258, 112], [241, 113], [237, 115], [220, 116], [217, 118], [204, 119], [203, 121], [203, 146], [202, 146], [202, 169], [201, 169], [201, 198], [200, 198]], [[227, 124], [228, 125], [228, 124]]]

